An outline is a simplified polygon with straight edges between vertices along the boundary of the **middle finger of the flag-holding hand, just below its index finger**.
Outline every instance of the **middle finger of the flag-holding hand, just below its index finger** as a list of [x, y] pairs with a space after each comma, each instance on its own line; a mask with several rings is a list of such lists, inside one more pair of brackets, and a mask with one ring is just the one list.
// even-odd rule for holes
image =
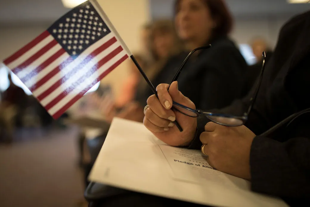
[[160, 118], [175, 121], [175, 113], [172, 110], [165, 109], [155, 95], [148, 97], [146, 102], [149, 108]]

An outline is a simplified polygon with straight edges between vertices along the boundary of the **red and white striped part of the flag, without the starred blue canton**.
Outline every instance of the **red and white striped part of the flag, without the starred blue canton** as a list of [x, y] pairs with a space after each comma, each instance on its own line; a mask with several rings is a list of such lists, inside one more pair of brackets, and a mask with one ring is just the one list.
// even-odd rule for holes
[[111, 32], [73, 60], [45, 31], [4, 63], [56, 119], [128, 55]]

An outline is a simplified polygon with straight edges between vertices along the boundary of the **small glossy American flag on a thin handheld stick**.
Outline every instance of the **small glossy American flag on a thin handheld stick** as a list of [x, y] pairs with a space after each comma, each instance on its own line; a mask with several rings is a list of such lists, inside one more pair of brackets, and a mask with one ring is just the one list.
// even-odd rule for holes
[[86, 1], [4, 64], [57, 119], [131, 52], [95, 1]]

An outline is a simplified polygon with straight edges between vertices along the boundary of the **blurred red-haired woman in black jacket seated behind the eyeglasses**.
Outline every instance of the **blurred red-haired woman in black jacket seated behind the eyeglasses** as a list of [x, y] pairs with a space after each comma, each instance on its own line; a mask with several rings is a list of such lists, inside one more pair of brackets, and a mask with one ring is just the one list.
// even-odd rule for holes
[[153, 84], [171, 83], [188, 52], [211, 44], [188, 60], [178, 79], [180, 90], [203, 109], [224, 107], [240, 98], [247, 64], [228, 38], [232, 25], [230, 11], [222, 0], [175, 1], [175, 28], [185, 52], [170, 59], [161, 72], [166, 79]]

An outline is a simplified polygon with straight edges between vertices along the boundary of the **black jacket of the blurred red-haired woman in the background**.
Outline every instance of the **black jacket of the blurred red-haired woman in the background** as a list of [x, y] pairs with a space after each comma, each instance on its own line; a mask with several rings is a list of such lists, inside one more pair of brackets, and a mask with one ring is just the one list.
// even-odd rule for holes
[[[201, 109], [225, 107], [241, 98], [243, 74], [247, 68], [246, 61], [230, 39], [220, 37], [210, 43], [211, 48], [191, 56], [178, 79], [179, 90]], [[187, 55], [188, 52], [182, 52], [172, 57], [152, 81], [153, 85], [170, 84]], [[144, 101], [143, 106], [150, 95], [149, 89], [139, 99]]]

